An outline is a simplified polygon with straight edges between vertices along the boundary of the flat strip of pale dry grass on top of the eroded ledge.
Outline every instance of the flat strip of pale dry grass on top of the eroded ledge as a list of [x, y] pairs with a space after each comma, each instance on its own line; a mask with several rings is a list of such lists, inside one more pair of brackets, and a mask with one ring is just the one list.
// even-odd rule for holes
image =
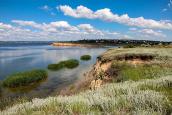
[[[119, 56], [125, 55], [152, 55], [154, 61], [168, 61], [172, 60], [172, 48], [115, 48], [109, 49], [105, 53], [99, 56], [99, 60], [102, 62], [116, 60]], [[168, 59], [168, 60], [167, 60]]]

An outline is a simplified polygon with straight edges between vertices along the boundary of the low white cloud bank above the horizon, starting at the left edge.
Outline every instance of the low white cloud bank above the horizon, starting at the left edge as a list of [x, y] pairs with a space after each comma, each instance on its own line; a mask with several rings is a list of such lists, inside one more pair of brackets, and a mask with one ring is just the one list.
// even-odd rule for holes
[[[0, 23], [0, 40], [77, 40], [116, 38], [116, 32], [101, 31], [90, 24], [70, 25], [66, 21], [36, 23], [12, 20]], [[110, 35], [111, 34], [111, 35]]]

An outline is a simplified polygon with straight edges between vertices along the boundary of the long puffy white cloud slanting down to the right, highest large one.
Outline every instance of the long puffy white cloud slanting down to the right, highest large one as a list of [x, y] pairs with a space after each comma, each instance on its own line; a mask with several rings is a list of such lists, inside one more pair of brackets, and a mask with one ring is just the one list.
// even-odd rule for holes
[[118, 15], [112, 13], [109, 8], [99, 9], [97, 11], [92, 11], [91, 9], [82, 5], [78, 6], [76, 9], [73, 9], [68, 5], [60, 5], [57, 8], [59, 8], [64, 15], [75, 18], [100, 19], [103, 21], [116, 22], [128, 26], [172, 30], [172, 23], [163, 20], [156, 21], [153, 19], [145, 19], [144, 17], [131, 18], [128, 16], [128, 14]]

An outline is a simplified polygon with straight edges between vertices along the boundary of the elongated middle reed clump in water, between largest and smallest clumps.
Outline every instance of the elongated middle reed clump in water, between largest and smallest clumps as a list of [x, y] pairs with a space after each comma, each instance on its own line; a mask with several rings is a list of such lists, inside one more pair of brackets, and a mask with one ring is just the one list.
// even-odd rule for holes
[[63, 68], [73, 69], [79, 65], [79, 61], [76, 59], [69, 59], [65, 61], [60, 61], [57, 64], [49, 64], [48, 69], [52, 71], [57, 71]]

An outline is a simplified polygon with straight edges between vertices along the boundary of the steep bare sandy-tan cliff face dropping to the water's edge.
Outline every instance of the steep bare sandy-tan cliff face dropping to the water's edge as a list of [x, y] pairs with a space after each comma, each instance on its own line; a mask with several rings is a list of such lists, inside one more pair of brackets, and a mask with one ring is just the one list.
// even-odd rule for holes
[[102, 63], [101, 60], [93, 65], [92, 69], [84, 74], [82, 80], [61, 90], [60, 95], [72, 95], [88, 89], [95, 90], [101, 87], [110, 77], [104, 73], [111, 67], [111, 62]]

